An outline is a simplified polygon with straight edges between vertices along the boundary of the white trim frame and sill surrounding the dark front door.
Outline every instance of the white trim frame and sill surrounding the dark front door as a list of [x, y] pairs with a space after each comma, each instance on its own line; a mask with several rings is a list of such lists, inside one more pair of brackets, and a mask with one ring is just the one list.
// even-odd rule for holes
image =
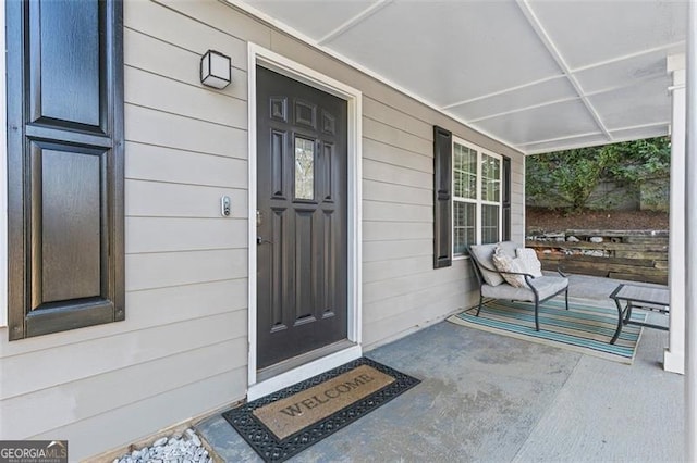
[[[333, 95], [347, 103], [347, 338], [353, 347], [301, 365], [289, 372], [257, 383], [257, 114], [256, 66], [262, 65], [303, 84]], [[339, 80], [289, 60], [256, 43], [247, 45], [247, 117], [248, 117], [248, 365], [247, 400], [254, 400], [303, 379], [331, 370], [363, 354], [362, 349], [362, 97], [363, 93]]]

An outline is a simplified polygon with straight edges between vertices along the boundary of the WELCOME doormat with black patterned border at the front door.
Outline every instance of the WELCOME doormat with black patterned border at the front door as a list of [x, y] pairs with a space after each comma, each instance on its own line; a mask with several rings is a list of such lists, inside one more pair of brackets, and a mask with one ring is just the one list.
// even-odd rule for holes
[[360, 358], [222, 416], [266, 462], [282, 462], [420, 380]]

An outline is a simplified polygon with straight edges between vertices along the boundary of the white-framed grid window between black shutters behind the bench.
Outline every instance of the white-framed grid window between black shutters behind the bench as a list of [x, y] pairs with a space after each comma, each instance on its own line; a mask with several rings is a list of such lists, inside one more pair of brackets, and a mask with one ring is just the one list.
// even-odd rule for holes
[[453, 255], [470, 245], [502, 239], [502, 161], [499, 154], [453, 138]]

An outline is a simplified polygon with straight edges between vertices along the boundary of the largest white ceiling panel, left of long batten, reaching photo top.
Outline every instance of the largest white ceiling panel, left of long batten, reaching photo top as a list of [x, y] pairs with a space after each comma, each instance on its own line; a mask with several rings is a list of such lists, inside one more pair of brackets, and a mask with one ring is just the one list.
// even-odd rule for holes
[[326, 45], [438, 105], [561, 75], [513, 0], [394, 2]]

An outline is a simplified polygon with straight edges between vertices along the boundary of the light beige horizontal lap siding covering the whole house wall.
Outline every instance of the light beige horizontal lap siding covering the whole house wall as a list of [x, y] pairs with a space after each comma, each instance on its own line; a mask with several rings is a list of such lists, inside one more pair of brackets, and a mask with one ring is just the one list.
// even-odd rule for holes
[[[124, 24], [126, 321], [12, 343], [0, 328], [3, 439], [69, 439], [82, 459], [245, 397], [247, 40], [364, 92], [365, 347], [476, 297], [468, 261], [432, 268], [433, 125], [512, 158], [522, 241], [518, 153], [222, 2], [127, 0]], [[232, 57], [224, 90], [198, 82], [208, 49]]]

